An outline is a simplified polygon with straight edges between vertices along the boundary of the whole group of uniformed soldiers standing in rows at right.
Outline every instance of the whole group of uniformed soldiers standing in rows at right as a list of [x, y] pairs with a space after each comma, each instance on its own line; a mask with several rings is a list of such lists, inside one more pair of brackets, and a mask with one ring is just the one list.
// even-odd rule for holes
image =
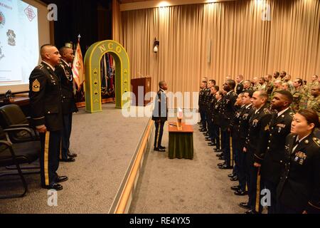
[[[257, 90], [242, 76], [236, 78], [238, 86], [227, 78], [223, 90], [214, 80], [203, 78], [200, 131], [223, 160], [218, 168], [233, 169], [228, 176], [239, 182], [231, 187], [234, 194], [248, 195], [248, 201], [239, 204], [247, 214], [261, 213], [262, 206], [268, 206], [270, 214], [319, 213], [319, 84], [313, 81], [309, 99], [304, 101], [311, 109], [300, 110], [306, 108], [300, 106], [302, 95], [308, 96], [299, 93], [300, 81], [294, 81], [293, 92], [279, 89], [282, 81], [275, 75], [274, 81], [266, 76], [269, 81]], [[263, 204], [260, 199], [266, 192], [271, 201]]]

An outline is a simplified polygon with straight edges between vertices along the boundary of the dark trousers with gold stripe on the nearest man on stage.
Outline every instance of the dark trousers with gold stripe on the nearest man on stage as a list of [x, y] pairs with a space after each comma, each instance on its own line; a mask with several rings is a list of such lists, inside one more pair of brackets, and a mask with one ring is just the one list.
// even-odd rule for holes
[[45, 187], [55, 183], [58, 177], [61, 132], [47, 131], [41, 133], [40, 140], [41, 185]]

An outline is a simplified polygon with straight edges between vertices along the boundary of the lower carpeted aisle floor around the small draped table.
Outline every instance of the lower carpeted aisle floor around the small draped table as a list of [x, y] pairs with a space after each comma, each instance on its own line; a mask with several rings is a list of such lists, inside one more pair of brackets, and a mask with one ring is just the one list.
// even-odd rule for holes
[[[174, 120], [174, 119], [173, 119]], [[193, 160], [170, 160], [168, 152], [153, 151], [146, 154], [137, 192], [130, 213], [243, 213], [238, 206], [246, 202], [247, 196], [233, 195], [228, 174], [232, 170], [219, 170], [220, 162], [213, 147], [208, 147], [203, 134], [193, 126]], [[167, 125], [164, 129], [163, 145], [168, 145]], [[153, 142], [151, 142], [153, 143]]]

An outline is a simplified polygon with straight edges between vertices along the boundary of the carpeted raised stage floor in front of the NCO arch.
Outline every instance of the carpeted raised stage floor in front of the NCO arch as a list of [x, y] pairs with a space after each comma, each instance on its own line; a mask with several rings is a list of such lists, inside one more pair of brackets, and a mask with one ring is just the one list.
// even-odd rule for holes
[[[40, 175], [26, 175], [28, 193], [23, 198], [0, 199], [0, 214], [109, 212], [149, 123], [148, 117], [124, 118], [114, 107], [102, 105], [102, 113], [95, 114], [80, 108], [73, 115], [70, 151], [78, 157], [75, 162], [60, 163], [58, 175], [69, 180], [58, 192], [58, 207], [48, 206], [48, 190], [41, 189]], [[1, 177], [0, 195], [6, 190], [21, 191], [19, 177]]]

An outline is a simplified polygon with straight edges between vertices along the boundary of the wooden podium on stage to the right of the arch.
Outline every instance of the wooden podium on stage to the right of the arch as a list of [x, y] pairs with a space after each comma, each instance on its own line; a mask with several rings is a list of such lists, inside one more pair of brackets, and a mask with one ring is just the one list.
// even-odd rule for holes
[[132, 93], [136, 99], [132, 98], [132, 104], [135, 106], [146, 106], [151, 102], [151, 99], [144, 100], [146, 93], [151, 92], [151, 78], [134, 78], [131, 80]]

